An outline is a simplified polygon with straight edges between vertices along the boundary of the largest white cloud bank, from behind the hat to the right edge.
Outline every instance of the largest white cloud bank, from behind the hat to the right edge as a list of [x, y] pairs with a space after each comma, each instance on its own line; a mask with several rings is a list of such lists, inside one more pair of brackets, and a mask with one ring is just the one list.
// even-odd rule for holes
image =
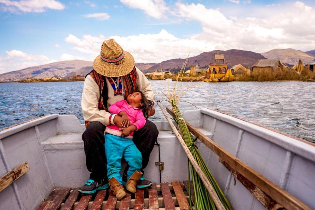
[[[206, 8], [202, 4], [177, 2], [175, 15], [187, 21], [198, 21], [202, 32], [178, 38], [166, 30], [157, 34], [133, 36], [91, 36], [66, 37], [73, 49], [86, 53], [91, 58], [100, 54], [104, 40], [114, 38], [124, 50], [130, 52], [138, 63], [158, 63], [172, 58], [196, 56], [212, 51], [241, 49], [266, 52], [274, 48], [295, 48], [307, 51], [315, 48], [315, 13], [304, 3], [296, 2], [285, 7], [261, 7], [266, 18], [248, 16], [228, 18], [218, 9]], [[279, 10], [280, 9], [280, 10]], [[277, 12], [275, 12], [277, 11]], [[220, 23], [220, 24], [218, 24]]]

